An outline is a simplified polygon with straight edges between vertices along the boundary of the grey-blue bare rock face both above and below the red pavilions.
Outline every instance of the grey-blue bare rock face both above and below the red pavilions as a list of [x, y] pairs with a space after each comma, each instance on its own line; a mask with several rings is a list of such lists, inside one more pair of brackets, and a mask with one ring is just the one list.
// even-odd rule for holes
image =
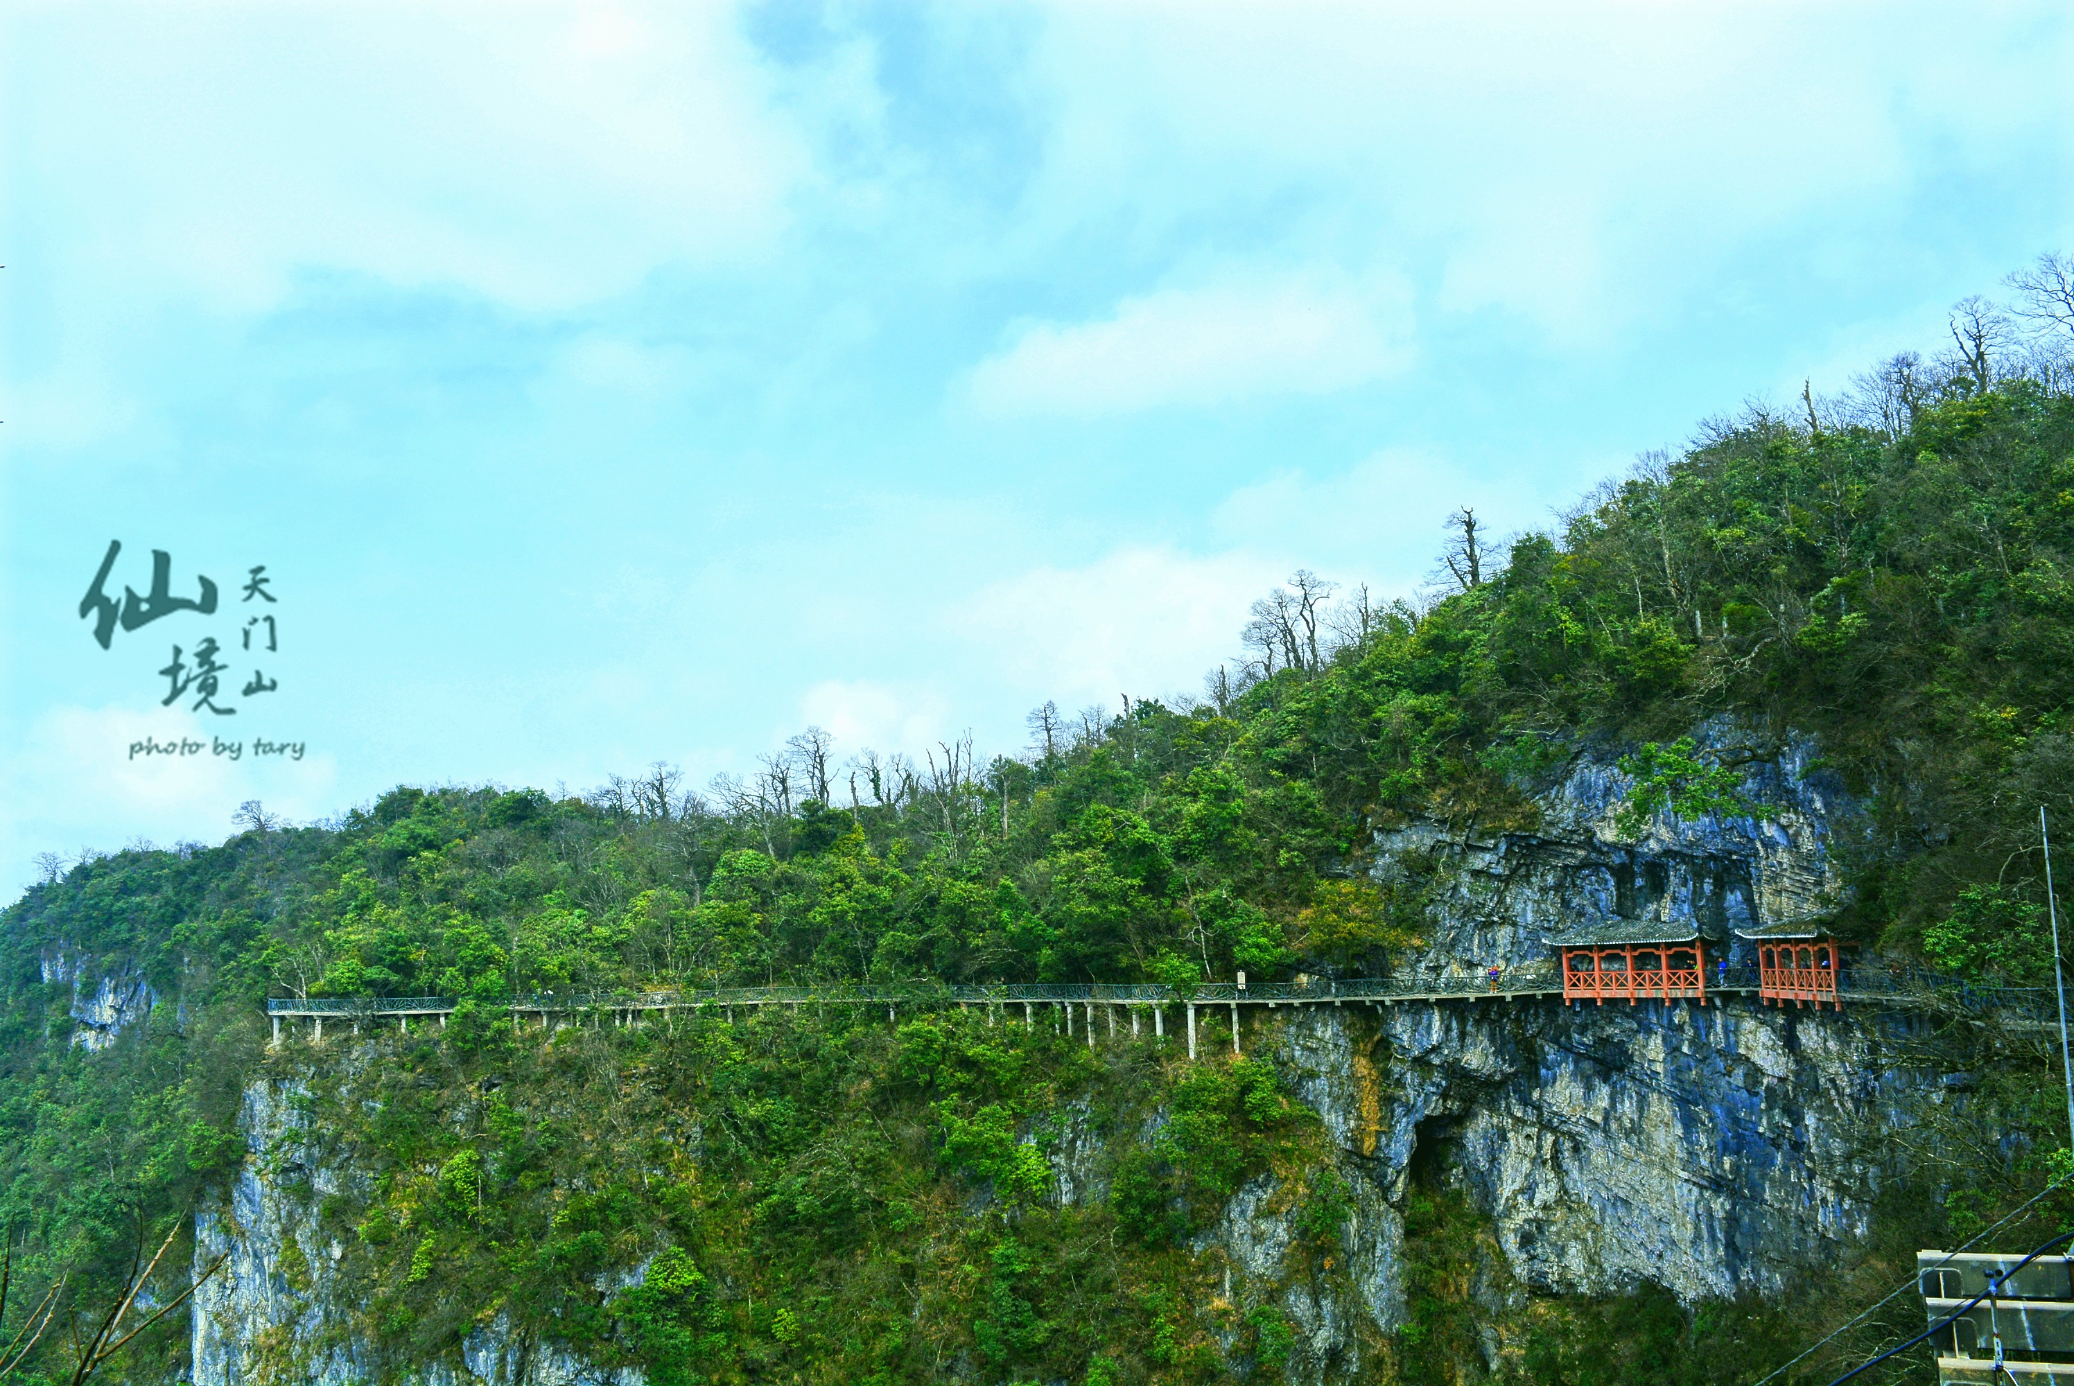
[[[1626, 791], [1609, 759], [1585, 755], [1537, 799], [1533, 832], [1377, 834], [1377, 880], [1429, 886], [1427, 948], [1408, 971], [1553, 971], [1547, 934], [1595, 919], [1730, 934], [1835, 907], [1833, 842], [1852, 805], [1813, 768], [1811, 747], [1746, 774], [1765, 817], [1663, 815], [1622, 842], [1611, 820]], [[1259, 1027], [1249, 1048], [1325, 1120], [1352, 1191], [1348, 1274], [1336, 1295], [1288, 1274], [1292, 1230], [1271, 1212], [1271, 1181], [1234, 1199], [1205, 1249], [1222, 1249], [1251, 1295], [1298, 1326], [1305, 1376], [1319, 1380], [1354, 1371], [1371, 1330], [1404, 1322], [1400, 1210], [1414, 1170], [1489, 1220], [1504, 1266], [1485, 1276], [1485, 1299], [1643, 1282], [1682, 1301], [1777, 1291], [1867, 1230], [1885, 1172], [1875, 1137], [1908, 1118], [1931, 1079], [1891, 1071], [1862, 1015], [1748, 998], [1265, 1015], [1267, 1025], [1249, 1021]], [[1495, 1359], [1504, 1342], [1485, 1351]]]

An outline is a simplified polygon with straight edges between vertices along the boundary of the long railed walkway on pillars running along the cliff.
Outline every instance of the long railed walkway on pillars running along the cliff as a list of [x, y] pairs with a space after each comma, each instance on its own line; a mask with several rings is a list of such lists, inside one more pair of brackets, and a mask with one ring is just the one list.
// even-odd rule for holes
[[[1759, 973], [1755, 967], [1730, 967], [1707, 977], [1707, 998], [1757, 996]], [[1551, 965], [1529, 965], [1477, 973], [1408, 975], [1408, 977], [1354, 977], [1354, 979], [1309, 979], [1309, 981], [1213, 981], [1190, 990], [1161, 983], [1060, 983], [1060, 981], [1008, 981], [991, 986], [946, 986], [929, 981], [908, 981], [892, 986], [761, 986], [761, 988], [697, 988], [676, 992], [535, 992], [508, 1002], [489, 1002], [492, 1008], [506, 1010], [512, 1027], [537, 1021], [541, 1029], [550, 1017], [589, 1019], [601, 1025], [612, 1017], [614, 1025], [637, 1025], [649, 1013], [705, 1010], [718, 1008], [730, 1021], [736, 1006], [886, 1006], [888, 1019], [906, 1008], [935, 1006], [983, 1006], [989, 1023], [1002, 1015], [1020, 1019], [1025, 1025], [1037, 1023], [1037, 1008], [1047, 1006], [1054, 1025], [1066, 1033], [1074, 1031], [1078, 1013], [1087, 1044], [1095, 1044], [1095, 1008], [1103, 1013], [1108, 1033], [1118, 1033], [1118, 1013], [1130, 1025], [1130, 1033], [1141, 1033], [1141, 1025], [1151, 1015], [1153, 1035], [1166, 1035], [1166, 1013], [1178, 1006], [1186, 1013], [1188, 1056], [1197, 1052], [1197, 1023], [1201, 1010], [1230, 1008], [1232, 1050], [1238, 1050], [1238, 1008], [1240, 1006], [1344, 1006], [1348, 1002], [1388, 1004], [1431, 1004], [1431, 1002], [1508, 1002], [1526, 998], [1564, 996], [1562, 977]], [[1929, 973], [1844, 969], [1838, 975], [1835, 996], [1840, 1002], [1873, 1004], [1881, 1008], [1941, 1010], [1941, 1013], [1993, 1013], [2003, 1023], [2039, 1025], [2053, 1013], [2053, 994], [2045, 988], [1981, 988], [1954, 977]], [[1647, 988], [1636, 988], [1632, 996], [1607, 994], [1593, 1004], [1672, 1004], [1692, 1000], [1690, 996], [1653, 996]], [[1578, 1002], [1585, 1004], [1585, 1002]], [[336, 998], [276, 998], [268, 1002], [274, 1019], [274, 1042], [282, 1040], [282, 1021], [290, 1027], [297, 1021], [311, 1021], [311, 1040], [324, 1042], [326, 1021], [351, 1023], [355, 1031], [363, 1023], [396, 1019], [396, 1027], [411, 1029], [411, 1019], [438, 1019], [446, 1025], [460, 1006], [452, 996], [336, 996]], [[1014, 1017], [1012, 1006], [1022, 1015]]]

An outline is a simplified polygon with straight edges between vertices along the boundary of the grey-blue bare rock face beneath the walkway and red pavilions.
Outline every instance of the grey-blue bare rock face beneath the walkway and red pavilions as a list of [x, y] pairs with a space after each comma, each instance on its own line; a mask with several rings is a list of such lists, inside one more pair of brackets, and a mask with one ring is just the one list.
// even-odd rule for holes
[[1524, 1291], [1775, 1291], [1867, 1230], [1881, 1181], [1869, 1137], [1904, 1118], [1916, 1087], [1883, 1071], [1854, 1017], [1744, 1000], [1282, 1015], [1249, 1048], [1294, 1077], [1334, 1139], [1348, 1276], [1321, 1295], [1288, 1274], [1292, 1226], [1265, 1212], [1278, 1193], [1265, 1179], [1205, 1249], [1298, 1326], [1317, 1378], [1352, 1371], [1369, 1330], [1404, 1322], [1414, 1172], [1466, 1193], [1504, 1253], [1497, 1280]]

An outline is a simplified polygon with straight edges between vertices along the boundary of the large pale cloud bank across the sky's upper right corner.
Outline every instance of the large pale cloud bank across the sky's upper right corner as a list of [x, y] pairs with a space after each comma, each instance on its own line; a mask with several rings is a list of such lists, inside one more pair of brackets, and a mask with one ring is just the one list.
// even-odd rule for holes
[[1068, 4], [1018, 232], [1149, 257], [1236, 224], [1603, 344], [1713, 301], [1726, 264], [1840, 247], [1821, 274], [1865, 274], [1947, 164], [2064, 168], [2070, 62], [2055, 6]]

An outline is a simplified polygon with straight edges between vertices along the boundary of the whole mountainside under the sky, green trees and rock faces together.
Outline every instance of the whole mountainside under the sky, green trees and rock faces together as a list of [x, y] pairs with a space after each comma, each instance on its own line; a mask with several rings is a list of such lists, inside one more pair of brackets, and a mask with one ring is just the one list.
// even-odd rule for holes
[[[197, 1380], [232, 1351], [280, 1380], [1738, 1380], [1831, 1315], [1777, 1295], [2043, 1183], [2043, 1050], [1537, 1004], [1278, 1017], [1188, 1064], [958, 1013], [543, 1044], [502, 1006], [1481, 967], [1543, 948], [1531, 869], [1487, 853], [1632, 865], [1769, 832], [1811, 776], [1813, 907], [2035, 981], [2070, 554], [2074, 400], [1954, 382], [1891, 429], [1713, 427], [1427, 610], [1305, 575], [1205, 701], [1041, 714], [1027, 759], [850, 774], [809, 737], [709, 799], [664, 770], [398, 788], [83, 861], [0, 919], [6, 1332], [60, 1274], [106, 1307], [139, 1224], [180, 1220], [156, 1293], [230, 1249], [228, 1320], [170, 1315], [104, 1374], [199, 1347]], [[268, 996], [433, 992], [469, 1002], [444, 1031], [265, 1048]]]

